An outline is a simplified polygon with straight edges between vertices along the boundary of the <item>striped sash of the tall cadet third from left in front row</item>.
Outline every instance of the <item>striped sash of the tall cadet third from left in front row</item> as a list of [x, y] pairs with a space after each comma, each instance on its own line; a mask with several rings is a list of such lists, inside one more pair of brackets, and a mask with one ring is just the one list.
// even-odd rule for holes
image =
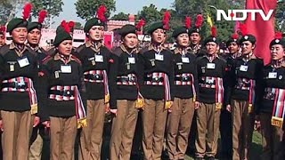
[[[105, 103], [109, 103], [110, 100], [110, 92], [109, 92], [109, 83], [108, 76], [106, 70], [89, 70], [84, 74], [84, 81], [90, 83], [102, 83], [104, 84], [104, 92], [105, 92]], [[87, 76], [91, 76], [93, 78], [87, 78]], [[102, 76], [102, 78], [100, 78]]]

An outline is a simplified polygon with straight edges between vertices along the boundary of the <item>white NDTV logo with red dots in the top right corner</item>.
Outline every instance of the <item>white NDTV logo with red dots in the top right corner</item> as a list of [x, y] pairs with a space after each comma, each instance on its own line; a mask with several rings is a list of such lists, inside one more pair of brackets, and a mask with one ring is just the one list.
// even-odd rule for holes
[[[267, 14], [265, 14], [262, 10], [228, 10], [228, 14], [224, 12], [224, 10], [216, 10], [216, 20], [222, 20], [222, 16], [224, 20], [246, 20], [248, 18], [248, 13], [251, 13], [250, 20], [256, 20], [256, 13], [259, 13], [262, 20], [269, 20], [273, 15], [274, 10], [269, 10]], [[239, 14], [239, 16], [237, 16]]]

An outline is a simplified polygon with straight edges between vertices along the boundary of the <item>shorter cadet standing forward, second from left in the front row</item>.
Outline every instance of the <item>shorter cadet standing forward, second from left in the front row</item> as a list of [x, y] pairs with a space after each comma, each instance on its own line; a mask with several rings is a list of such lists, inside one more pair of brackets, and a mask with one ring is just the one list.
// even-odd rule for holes
[[[74, 156], [77, 128], [86, 125], [83, 72], [80, 60], [70, 54], [72, 38], [67, 23], [54, 39], [56, 54], [44, 60], [46, 100], [45, 127], [50, 127], [52, 160], [68, 159]], [[81, 92], [82, 91], [82, 92]]]

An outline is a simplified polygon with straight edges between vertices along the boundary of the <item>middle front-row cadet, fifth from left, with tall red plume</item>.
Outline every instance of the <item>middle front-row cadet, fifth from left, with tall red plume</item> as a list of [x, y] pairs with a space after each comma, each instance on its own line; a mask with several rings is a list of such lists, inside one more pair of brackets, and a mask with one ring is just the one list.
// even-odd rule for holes
[[140, 54], [144, 71], [142, 96], [145, 101], [142, 111], [142, 148], [144, 159], [160, 159], [164, 132], [167, 122], [167, 110], [173, 102], [170, 94], [174, 84], [173, 54], [162, 45], [168, 29], [169, 13], [164, 22], [154, 22], [149, 26], [151, 45]]

